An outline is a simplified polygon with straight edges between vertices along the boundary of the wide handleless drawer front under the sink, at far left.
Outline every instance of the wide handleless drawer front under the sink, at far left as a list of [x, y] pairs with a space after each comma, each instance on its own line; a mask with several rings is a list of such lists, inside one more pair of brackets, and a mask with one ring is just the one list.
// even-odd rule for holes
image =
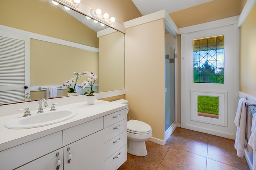
[[10, 170], [62, 148], [62, 131], [0, 152], [0, 169]]

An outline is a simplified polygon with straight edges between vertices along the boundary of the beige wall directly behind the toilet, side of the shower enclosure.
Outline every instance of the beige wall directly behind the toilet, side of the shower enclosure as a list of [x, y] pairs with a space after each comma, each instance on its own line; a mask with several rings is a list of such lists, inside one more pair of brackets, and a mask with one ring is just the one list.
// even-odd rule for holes
[[164, 20], [126, 29], [125, 85], [129, 117], [164, 140]]

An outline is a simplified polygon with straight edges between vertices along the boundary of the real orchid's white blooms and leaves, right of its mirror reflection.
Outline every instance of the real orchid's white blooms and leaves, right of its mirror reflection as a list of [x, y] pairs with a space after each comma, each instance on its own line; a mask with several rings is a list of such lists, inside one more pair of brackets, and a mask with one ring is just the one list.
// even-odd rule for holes
[[82, 81], [81, 88], [85, 88], [86, 85], [90, 86], [90, 90], [87, 90], [88, 92], [85, 92], [84, 95], [94, 96], [94, 93], [96, 93], [96, 91], [93, 90], [92, 87], [93, 87], [93, 85], [96, 82], [98, 77], [93, 72], [88, 72], [88, 71], [84, 72], [84, 75], [88, 76], [88, 81]]

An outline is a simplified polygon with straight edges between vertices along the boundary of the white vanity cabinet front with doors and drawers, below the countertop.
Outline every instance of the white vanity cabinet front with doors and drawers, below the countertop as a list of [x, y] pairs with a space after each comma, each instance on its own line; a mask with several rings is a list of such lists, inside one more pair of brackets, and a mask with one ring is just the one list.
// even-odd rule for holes
[[127, 160], [127, 110], [108, 113], [2, 150], [0, 170], [118, 169]]

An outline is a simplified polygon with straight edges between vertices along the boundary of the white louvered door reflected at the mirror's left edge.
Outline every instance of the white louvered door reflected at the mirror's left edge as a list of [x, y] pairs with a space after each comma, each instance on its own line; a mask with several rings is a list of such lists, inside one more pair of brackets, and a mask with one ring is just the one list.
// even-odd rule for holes
[[29, 92], [28, 45], [28, 37], [0, 31], [0, 104], [25, 101]]

